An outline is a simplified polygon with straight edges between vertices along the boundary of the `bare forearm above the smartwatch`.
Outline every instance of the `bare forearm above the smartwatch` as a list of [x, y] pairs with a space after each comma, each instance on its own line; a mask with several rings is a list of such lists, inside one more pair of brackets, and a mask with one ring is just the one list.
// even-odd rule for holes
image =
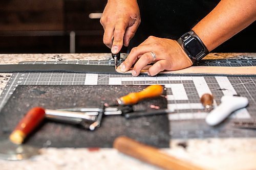
[[193, 30], [211, 51], [255, 19], [255, 0], [222, 0]]

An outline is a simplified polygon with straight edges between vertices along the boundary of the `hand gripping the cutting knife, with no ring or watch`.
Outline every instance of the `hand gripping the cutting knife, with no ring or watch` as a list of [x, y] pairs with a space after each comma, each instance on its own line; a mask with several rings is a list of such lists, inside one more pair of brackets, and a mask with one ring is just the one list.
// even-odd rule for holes
[[109, 0], [100, 23], [104, 28], [103, 42], [117, 54], [122, 45], [128, 46], [140, 25], [140, 11], [136, 0]]

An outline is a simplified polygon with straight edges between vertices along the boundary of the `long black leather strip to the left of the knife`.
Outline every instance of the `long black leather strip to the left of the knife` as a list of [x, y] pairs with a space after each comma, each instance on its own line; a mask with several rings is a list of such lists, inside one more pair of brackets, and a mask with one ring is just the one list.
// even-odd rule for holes
[[79, 64], [7, 64], [0, 65], [0, 72], [71, 72], [95, 74], [120, 74], [115, 66]]

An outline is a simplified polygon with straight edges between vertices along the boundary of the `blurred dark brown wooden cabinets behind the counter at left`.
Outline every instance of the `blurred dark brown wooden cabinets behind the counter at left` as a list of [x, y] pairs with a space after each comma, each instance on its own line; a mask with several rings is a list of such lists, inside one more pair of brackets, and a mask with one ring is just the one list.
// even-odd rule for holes
[[106, 0], [0, 1], [0, 53], [110, 52], [102, 42], [99, 18]]

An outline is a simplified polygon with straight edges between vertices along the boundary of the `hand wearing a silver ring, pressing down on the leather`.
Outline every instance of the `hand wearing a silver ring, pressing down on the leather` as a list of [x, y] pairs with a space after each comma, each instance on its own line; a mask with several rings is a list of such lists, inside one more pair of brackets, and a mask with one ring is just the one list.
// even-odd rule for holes
[[177, 41], [150, 36], [132, 49], [125, 61], [120, 64], [121, 71], [129, 70], [136, 62], [132, 75], [138, 76], [143, 67], [154, 61], [151, 52], [156, 55], [156, 61], [148, 69], [149, 76], [155, 76], [163, 70], [178, 70], [193, 65]]

